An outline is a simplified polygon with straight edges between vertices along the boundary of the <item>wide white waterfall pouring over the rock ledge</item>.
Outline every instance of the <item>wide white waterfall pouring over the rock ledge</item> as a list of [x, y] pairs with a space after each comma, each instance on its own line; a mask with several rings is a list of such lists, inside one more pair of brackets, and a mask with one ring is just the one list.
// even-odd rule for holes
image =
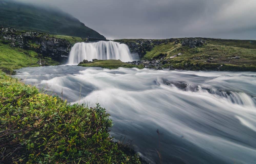
[[99, 41], [95, 43], [76, 43], [69, 53], [67, 64], [78, 64], [84, 59], [120, 59], [121, 61], [133, 61], [138, 59], [137, 54], [131, 54], [126, 44], [113, 41]]

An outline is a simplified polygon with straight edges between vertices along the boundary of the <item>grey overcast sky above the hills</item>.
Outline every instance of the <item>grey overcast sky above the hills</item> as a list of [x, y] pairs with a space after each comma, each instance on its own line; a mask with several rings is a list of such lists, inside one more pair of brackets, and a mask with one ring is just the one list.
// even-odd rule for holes
[[18, 0], [57, 6], [107, 39], [256, 39], [256, 0]]

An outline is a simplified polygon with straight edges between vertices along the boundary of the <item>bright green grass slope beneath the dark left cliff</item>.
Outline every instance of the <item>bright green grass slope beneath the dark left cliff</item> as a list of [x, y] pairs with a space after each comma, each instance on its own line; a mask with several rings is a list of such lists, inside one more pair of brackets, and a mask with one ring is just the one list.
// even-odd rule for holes
[[[1, 43], [0, 40], [0, 69], [5, 73], [14, 74], [14, 69], [39, 66], [37, 64], [39, 58], [38, 54], [32, 50], [14, 48], [8, 44]], [[50, 58], [43, 58], [43, 60], [49, 65], [59, 64]]]

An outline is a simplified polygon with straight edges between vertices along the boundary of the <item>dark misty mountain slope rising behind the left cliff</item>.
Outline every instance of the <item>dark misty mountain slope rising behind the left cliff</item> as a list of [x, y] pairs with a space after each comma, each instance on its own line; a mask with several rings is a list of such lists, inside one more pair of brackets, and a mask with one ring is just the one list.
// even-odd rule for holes
[[103, 35], [85, 26], [78, 19], [56, 8], [38, 7], [9, 0], [0, 0], [0, 27], [105, 39]]

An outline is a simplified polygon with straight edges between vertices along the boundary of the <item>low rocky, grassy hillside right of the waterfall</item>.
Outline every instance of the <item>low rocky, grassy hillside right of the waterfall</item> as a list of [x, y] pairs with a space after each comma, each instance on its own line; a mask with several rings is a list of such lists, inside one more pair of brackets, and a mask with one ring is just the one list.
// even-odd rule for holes
[[[147, 68], [256, 71], [256, 40], [213, 38], [120, 39]], [[160, 69], [159, 68], [159, 69]]]

